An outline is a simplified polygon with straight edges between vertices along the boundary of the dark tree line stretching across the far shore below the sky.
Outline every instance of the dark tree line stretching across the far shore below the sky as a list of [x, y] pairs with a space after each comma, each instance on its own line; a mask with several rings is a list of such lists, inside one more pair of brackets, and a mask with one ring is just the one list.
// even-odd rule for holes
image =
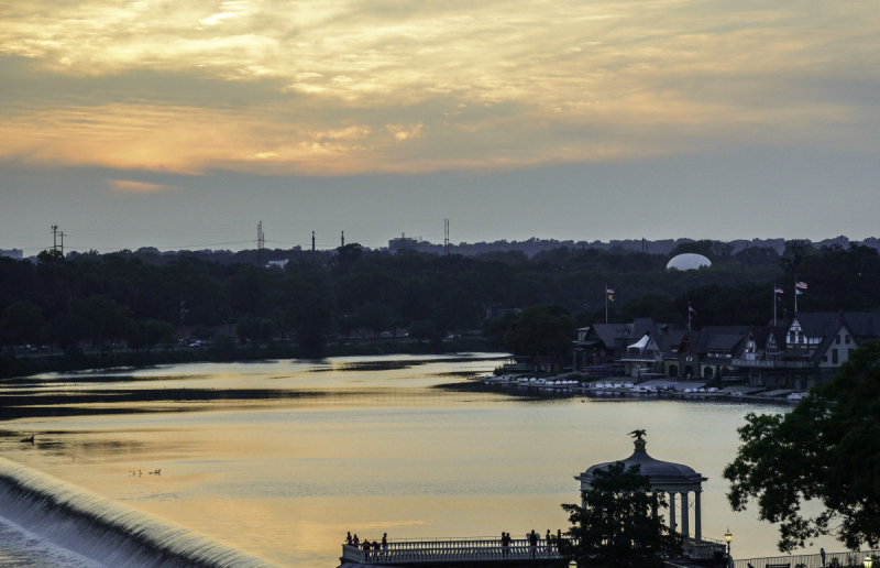
[[[682, 252], [704, 254], [713, 265], [666, 270]], [[389, 254], [351, 243], [331, 252], [290, 251], [288, 259], [283, 269], [266, 269], [129, 251], [44, 251], [36, 263], [3, 258], [0, 345], [75, 350], [84, 342], [102, 348], [124, 341], [146, 350], [186, 326], [198, 337], [260, 343], [287, 338], [312, 357], [355, 330], [378, 337], [396, 329], [429, 342], [479, 330], [495, 346], [535, 351], [524, 329], [544, 326], [543, 335], [551, 336], [548, 318], [566, 330], [604, 321], [606, 285], [615, 290], [610, 321], [652, 317], [684, 324], [690, 303], [697, 326], [763, 325], [772, 317], [774, 285], [785, 290], [780, 316], [791, 314], [795, 278], [810, 286], [799, 298], [802, 312], [880, 307], [878, 251], [856, 244], [788, 241], [782, 254], [759, 247], [734, 254], [729, 244], [695, 241], [668, 255], [562, 247], [529, 258]], [[519, 313], [487, 318], [492, 308]], [[556, 334], [560, 342], [562, 335]]]

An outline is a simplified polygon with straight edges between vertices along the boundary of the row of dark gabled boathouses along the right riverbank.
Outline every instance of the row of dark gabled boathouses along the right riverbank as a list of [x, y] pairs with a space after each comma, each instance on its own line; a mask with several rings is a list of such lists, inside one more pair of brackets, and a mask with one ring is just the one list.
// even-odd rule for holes
[[773, 326], [682, 330], [638, 318], [578, 330], [574, 370], [617, 364], [627, 376], [680, 376], [809, 389], [827, 382], [858, 346], [880, 339], [880, 313], [798, 314]]

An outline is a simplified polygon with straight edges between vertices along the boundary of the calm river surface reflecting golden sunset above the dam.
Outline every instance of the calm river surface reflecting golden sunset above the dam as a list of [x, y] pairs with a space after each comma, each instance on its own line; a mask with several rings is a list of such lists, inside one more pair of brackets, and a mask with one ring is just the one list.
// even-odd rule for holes
[[[729, 527], [735, 556], [773, 554], [776, 531], [755, 511], [729, 511], [721, 473], [744, 416], [788, 406], [433, 387], [496, 364], [394, 356], [45, 375], [2, 394], [61, 394], [68, 413], [87, 415], [2, 423], [0, 455], [279, 566], [329, 568], [346, 531], [374, 539], [564, 528], [560, 503], [579, 501], [573, 477], [629, 456], [627, 433], [645, 428], [653, 457], [710, 478], [705, 536]], [[18, 441], [33, 433], [35, 446]], [[34, 548], [8, 527], [0, 560]], [[20, 564], [44, 565], [53, 562]]]

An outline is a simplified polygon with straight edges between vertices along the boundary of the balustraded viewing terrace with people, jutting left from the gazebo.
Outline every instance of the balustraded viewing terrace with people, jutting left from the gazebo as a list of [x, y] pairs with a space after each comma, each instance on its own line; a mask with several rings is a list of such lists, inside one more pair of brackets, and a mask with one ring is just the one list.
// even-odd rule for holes
[[529, 546], [525, 538], [502, 546], [501, 538], [454, 538], [436, 540], [395, 540], [385, 549], [363, 549], [342, 545], [342, 565], [372, 565], [428, 568], [431, 566], [480, 567], [518, 566], [522, 568], [565, 567], [569, 560], [553, 544], [540, 539]]

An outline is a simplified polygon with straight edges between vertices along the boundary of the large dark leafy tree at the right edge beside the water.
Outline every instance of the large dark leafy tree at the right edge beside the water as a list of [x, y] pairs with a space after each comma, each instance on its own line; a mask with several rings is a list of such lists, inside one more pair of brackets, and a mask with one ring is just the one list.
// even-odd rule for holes
[[[789, 414], [746, 420], [724, 470], [735, 511], [757, 499], [760, 518], [780, 523], [782, 551], [821, 535], [849, 549], [880, 544], [880, 341], [855, 350]], [[806, 502], [821, 512], [805, 513]]]

